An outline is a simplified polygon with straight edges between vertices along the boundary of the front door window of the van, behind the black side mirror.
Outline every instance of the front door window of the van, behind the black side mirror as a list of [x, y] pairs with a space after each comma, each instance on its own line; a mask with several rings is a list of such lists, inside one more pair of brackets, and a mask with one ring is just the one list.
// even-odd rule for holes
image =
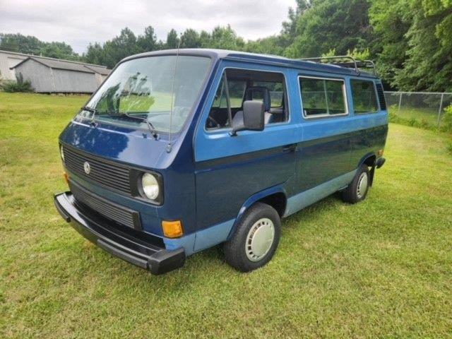
[[[226, 79], [225, 79], [226, 78]], [[226, 80], [226, 81], [225, 81]], [[227, 88], [225, 88], [227, 83]], [[227, 107], [229, 95], [230, 107]], [[206, 121], [206, 129], [225, 129], [231, 126], [230, 117], [243, 119], [243, 102], [258, 100], [266, 109], [266, 124], [287, 121], [287, 97], [283, 73], [247, 69], [227, 69], [215, 93]], [[238, 113], [238, 114], [237, 114]]]

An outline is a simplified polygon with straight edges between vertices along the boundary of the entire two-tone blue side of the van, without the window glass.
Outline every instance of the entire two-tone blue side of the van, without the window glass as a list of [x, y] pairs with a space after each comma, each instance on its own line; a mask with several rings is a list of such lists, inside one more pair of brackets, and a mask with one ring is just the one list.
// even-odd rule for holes
[[[222, 61], [220, 69], [234, 66], [244, 68]], [[198, 232], [205, 233], [199, 244], [196, 239], [196, 250], [213, 240], [221, 242], [215, 227], [227, 223], [224, 228], [229, 228], [244, 201], [259, 191], [282, 187], [287, 196], [285, 215], [290, 215], [343, 189], [355, 176], [362, 157], [376, 153], [386, 141], [386, 111], [355, 115], [349, 77], [335, 76], [345, 81], [346, 116], [306, 119], [298, 76], [321, 73], [300, 74], [295, 69], [255, 64], [246, 69], [285, 74], [290, 121], [268, 125], [264, 131], [242, 131], [235, 137], [227, 129], [206, 131], [206, 117], [222, 74], [218, 72], [194, 137], [196, 224]], [[295, 151], [287, 151], [285, 146], [293, 144]]]

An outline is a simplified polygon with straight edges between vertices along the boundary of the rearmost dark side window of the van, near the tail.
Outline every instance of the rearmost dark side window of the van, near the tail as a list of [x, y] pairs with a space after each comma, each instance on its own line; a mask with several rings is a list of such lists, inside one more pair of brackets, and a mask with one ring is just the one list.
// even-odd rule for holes
[[372, 81], [352, 80], [352, 97], [355, 113], [376, 113], [379, 105], [376, 102], [375, 86]]

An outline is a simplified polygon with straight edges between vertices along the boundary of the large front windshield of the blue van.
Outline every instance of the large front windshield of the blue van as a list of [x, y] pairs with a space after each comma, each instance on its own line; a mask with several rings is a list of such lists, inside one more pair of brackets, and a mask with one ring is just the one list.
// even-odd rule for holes
[[120, 64], [76, 119], [90, 119], [95, 109], [99, 121], [147, 128], [143, 119], [133, 119], [136, 116], [148, 119], [157, 131], [168, 132], [172, 111], [171, 131], [180, 131], [207, 76], [210, 59], [179, 55], [176, 66], [176, 58], [143, 57]]

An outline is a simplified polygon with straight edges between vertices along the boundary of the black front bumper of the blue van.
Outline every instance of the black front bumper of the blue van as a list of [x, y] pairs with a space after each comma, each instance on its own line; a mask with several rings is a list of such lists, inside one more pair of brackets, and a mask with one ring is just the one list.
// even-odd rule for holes
[[[146, 239], [139, 239], [140, 237], [136, 234], [113, 227], [113, 222], [79, 206], [71, 192], [56, 194], [54, 203], [66, 222], [71, 222], [72, 227], [78, 233], [109, 254], [150, 270], [150, 273], [153, 274], [166, 273], [184, 266], [184, 249], [168, 251]], [[143, 234], [143, 238], [146, 238], [145, 234]]]

